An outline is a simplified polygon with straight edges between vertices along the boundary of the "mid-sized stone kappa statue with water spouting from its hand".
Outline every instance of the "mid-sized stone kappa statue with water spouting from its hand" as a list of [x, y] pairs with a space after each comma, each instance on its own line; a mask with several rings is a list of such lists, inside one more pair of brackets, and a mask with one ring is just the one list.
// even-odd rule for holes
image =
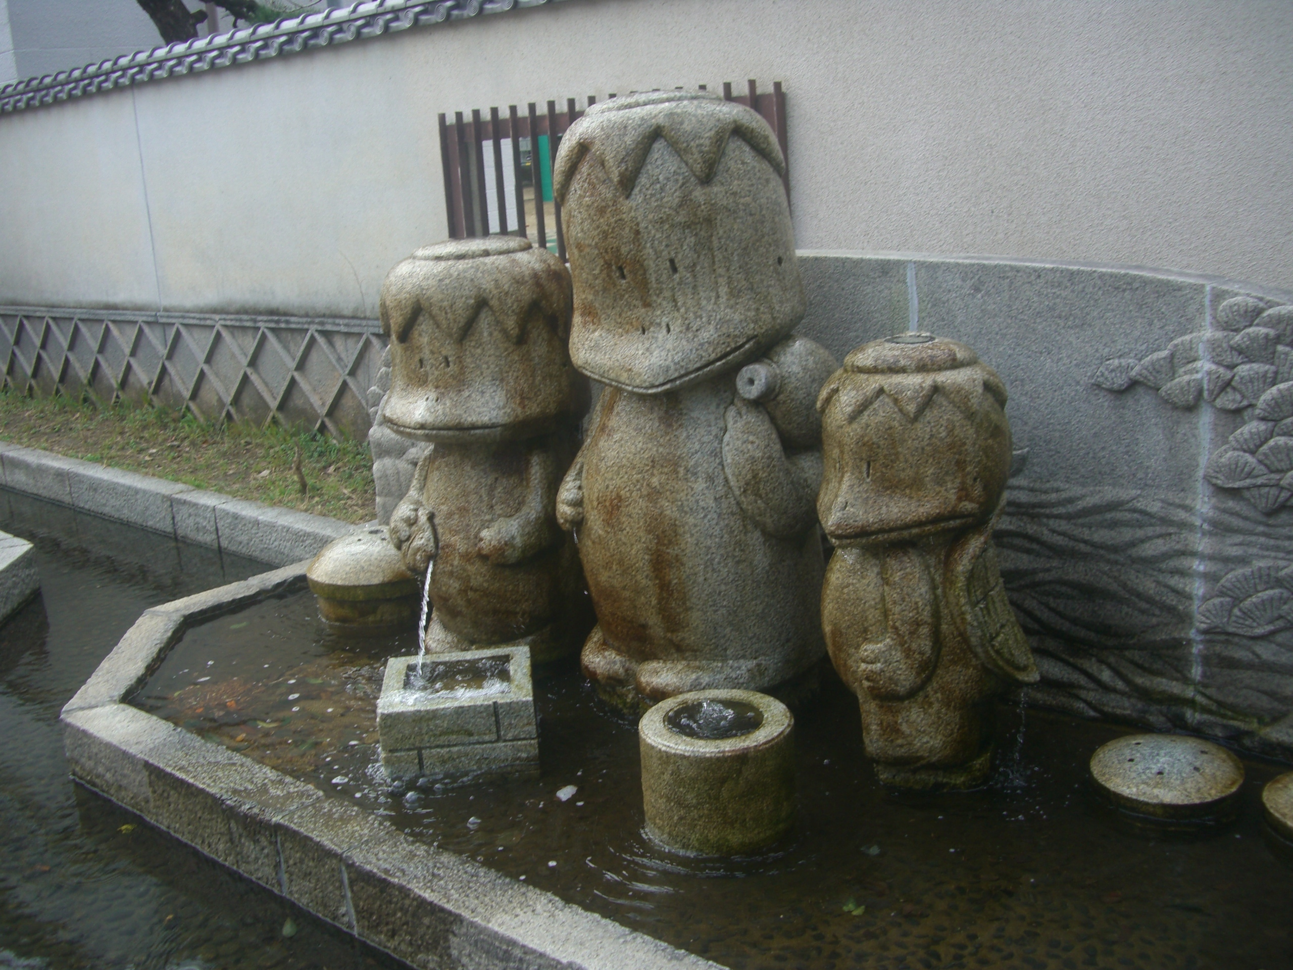
[[591, 616], [553, 510], [588, 398], [566, 350], [565, 266], [518, 237], [428, 246], [387, 275], [380, 310], [381, 416], [432, 442], [389, 526], [410, 572], [434, 563], [427, 649], [573, 652]]

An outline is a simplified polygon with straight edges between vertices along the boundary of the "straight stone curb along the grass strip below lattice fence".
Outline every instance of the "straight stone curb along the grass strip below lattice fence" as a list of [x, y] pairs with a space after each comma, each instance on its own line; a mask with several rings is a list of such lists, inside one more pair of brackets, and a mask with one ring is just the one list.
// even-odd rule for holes
[[5, 441], [0, 485], [277, 566], [309, 559], [356, 528]]

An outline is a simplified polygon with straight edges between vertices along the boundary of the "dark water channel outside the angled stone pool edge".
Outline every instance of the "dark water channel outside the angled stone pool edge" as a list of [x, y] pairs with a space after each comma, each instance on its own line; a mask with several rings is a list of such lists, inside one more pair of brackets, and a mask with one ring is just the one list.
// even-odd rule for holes
[[268, 566], [3, 490], [0, 530], [43, 583], [0, 626], [0, 969], [402, 967], [69, 777], [58, 711], [138, 614]]

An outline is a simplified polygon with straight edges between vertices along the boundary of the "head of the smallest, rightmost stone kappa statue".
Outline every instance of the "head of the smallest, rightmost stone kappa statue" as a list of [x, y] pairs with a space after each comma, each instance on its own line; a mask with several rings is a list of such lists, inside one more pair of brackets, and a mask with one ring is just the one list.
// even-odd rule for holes
[[837, 544], [981, 525], [1010, 475], [1006, 387], [965, 344], [899, 334], [844, 358], [817, 398], [817, 515]]

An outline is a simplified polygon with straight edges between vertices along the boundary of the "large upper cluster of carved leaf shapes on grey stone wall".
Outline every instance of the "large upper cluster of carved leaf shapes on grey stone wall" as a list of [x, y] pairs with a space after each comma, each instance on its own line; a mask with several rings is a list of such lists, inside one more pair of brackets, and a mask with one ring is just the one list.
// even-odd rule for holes
[[1236, 296], [1217, 309], [1217, 326], [1144, 360], [1107, 360], [1093, 383], [1106, 391], [1144, 384], [1173, 407], [1205, 401], [1243, 411], [1245, 424], [1213, 453], [1204, 477], [1274, 512], [1293, 498], [1293, 307]]

